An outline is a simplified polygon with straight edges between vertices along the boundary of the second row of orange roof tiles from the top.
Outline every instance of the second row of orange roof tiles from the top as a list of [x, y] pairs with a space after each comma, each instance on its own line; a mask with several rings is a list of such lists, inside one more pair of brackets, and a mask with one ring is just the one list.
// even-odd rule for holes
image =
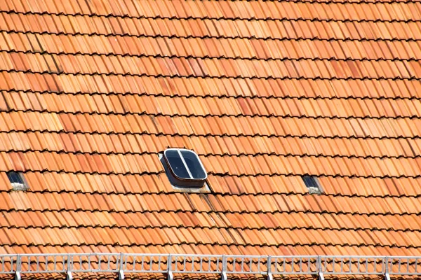
[[[319, 20], [171, 20], [168, 18], [105, 18], [76, 15], [39, 15], [0, 11], [7, 30], [121, 34], [131, 36], [210, 36], [242, 38], [421, 39], [418, 22], [359, 22]], [[5, 29], [4, 29], [5, 30]]]

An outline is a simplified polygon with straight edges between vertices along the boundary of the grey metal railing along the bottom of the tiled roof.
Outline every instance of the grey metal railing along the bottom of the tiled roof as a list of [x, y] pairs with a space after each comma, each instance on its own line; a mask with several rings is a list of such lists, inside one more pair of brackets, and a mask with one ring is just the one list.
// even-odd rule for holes
[[129, 273], [274, 275], [421, 276], [421, 257], [361, 255], [182, 255], [133, 253], [69, 253], [0, 255], [0, 274]]

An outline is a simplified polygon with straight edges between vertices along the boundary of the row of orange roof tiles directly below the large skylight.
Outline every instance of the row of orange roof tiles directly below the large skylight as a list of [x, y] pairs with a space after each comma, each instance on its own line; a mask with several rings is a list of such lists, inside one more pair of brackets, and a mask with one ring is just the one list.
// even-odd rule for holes
[[0, 192], [0, 210], [25, 211], [200, 211], [276, 212], [305, 211], [345, 214], [419, 214], [418, 197], [357, 197], [334, 195], [194, 195], [163, 194], [89, 194]]

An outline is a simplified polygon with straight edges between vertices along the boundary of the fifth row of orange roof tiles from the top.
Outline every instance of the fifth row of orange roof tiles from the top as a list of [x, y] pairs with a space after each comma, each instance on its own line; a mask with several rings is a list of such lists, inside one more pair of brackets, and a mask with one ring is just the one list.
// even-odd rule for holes
[[[154, 78], [55, 75], [0, 71], [2, 90], [74, 94], [133, 94], [206, 97], [323, 97], [420, 99], [420, 80], [312, 80], [233, 78]], [[416, 103], [415, 100], [414, 103]]]

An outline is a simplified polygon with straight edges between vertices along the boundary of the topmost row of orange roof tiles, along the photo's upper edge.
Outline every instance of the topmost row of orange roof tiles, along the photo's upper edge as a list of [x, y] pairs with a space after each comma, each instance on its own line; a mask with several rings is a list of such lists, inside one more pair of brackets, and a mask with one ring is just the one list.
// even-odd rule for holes
[[[247, 5], [243, 5], [247, 3]], [[366, 19], [377, 20], [378, 18], [387, 18], [392, 20], [393, 18], [399, 18], [402, 20], [408, 19], [408, 15], [412, 15], [412, 18], [417, 18], [416, 13], [411, 10], [408, 3], [413, 5], [419, 5], [419, 1], [384, 1], [373, 0], [373, 3], [363, 3], [361, 1], [357, 3], [349, 3], [341, 1], [335, 3], [335, 0], [327, 0], [327, 2], [319, 3], [319, 1], [183, 1], [181, 6], [176, 6], [168, 1], [142, 1], [142, 6], [138, 3], [131, 3], [126, 1], [121, 3], [119, 6], [112, 5], [89, 5], [88, 2], [79, 3], [78, 6], [71, 5], [48, 5], [44, 1], [32, 1], [32, 5], [10, 5], [9, 10], [18, 10], [25, 12], [27, 10], [34, 10], [36, 12], [48, 11], [49, 13], [88, 13], [91, 15], [129, 15], [129, 16], [203, 16], [211, 15], [216, 17], [234, 18], [240, 16], [242, 18], [283, 18], [288, 17], [291, 12], [295, 10], [308, 10], [308, 12], [314, 13], [314, 18], [324, 15], [328, 17], [329, 13], [326, 10], [330, 10], [332, 6], [340, 10], [342, 13], [335, 13], [336, 16], [342, 16], [345, 18], [361, 18], [361, 15]], [[385, 6], [391, 10], [403, 10], [402, 13], [381, 13], [378, 10], [378, 6]], [[223, 6], [222, 6], [223, 5]], [[222, 8], [220, 8], [222, 6]], [[310, 9], [309, 6], [314, 8]], [[346, 10], [354, 10], [349, 8], [351, 6], [357, 11], [373, 10], [372, 13], [347, 13]], [[236, 11], [236, 13], [234, 13]], [[297, 13], [297, 12], [295, 12]], [[334, 15], [330, 14], [330, 17]]]

